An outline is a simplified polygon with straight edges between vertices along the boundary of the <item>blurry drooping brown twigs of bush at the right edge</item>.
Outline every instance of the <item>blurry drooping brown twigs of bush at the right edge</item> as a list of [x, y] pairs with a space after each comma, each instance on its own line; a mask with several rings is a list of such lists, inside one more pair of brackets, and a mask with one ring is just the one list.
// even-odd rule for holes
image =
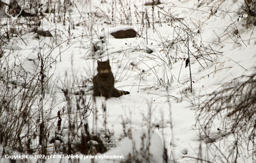
[[[228, 147], [229, 155], [223, 155], [224, 162], [236, 163], [245, 153], [248, 153], [252, 160], [255, 159], [256, 73], [235, 78], [222, 85], [219, 91], [209, 95], [200, 108], [197, 118], [200, 135], [210, 137], [211, 127], [218, 119], [221, 121], [222, 134], [235, 138]], [[221, 153], [221, 150], [216, 148]]]

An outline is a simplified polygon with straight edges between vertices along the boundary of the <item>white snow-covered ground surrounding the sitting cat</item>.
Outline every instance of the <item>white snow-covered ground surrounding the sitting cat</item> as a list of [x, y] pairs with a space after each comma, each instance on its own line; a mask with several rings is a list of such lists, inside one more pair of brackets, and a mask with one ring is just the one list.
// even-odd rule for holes
[[[163, 150], [160, 148], [163, 144], [161, 143], [167, 148], [169, 161], [190, 163], [195, 162], [195, 159], [190, 157], [200, 157], [210, 162], [218, 162], [218, 156], [212, 153], [215, 151], [213, 145], [209, 143], [206, 145], [199, 136], [198, 124], [196, 124], [197, 108], [206, 98], [202, 95], [213, 93], [222, 84], [234, 78], [255, 72], [253, 68], [256, 66], [255, 26], [246, 28], [247, 15], [243, 14], [244, 1], [161, 0], [162, 4], [154, 8], [154, 20], [152, 6], [144, 6], [145, 1], [116, 1], [115, 26], [122, 28], [121, 22], [126, 23], [124, 15], [130, 15], [131, 25], [142, 36], [128, 39], [115, 39], [108, 34], [113, 31], [111, 28], [113, 21], [110, 19], [113, 0], [105, 0], [104, 3], [101, 1], [72, 0], [73, 5], [70, 6], [70, 14], [66, 15], [65, 25], [62, 20], [57, 21], [56, 18], [59, 16], [57, 13], [55, 23], [54, 13], [45, 13], [46, 16], [41, 19], [40, 29], [49, 30], [53, 38], [39, 36], [38, 39], [36, 33], [29, 32], [23, 25], [20, 37], [12, 37], [10, 42], [2, 47], [6, 54], [10, 53], [9, 64], [15, 63], [15, 71], [20, 74], [40, 71], [39, 52], [54, 60], [51, 68], [47, 68], [47, 77], [52, 75], [52, 85], [46, 90], [46, 98], [43, 100], [46, 111], [52, 108], [51, 113], [44, 113], [45, 117], [52, 118], [48, 121], [50, 137], [54, 136], [55, 131], [59, 132], [56, 129], [57, 112], [62, 113], [62, 108], [65, 106], [67, 108], [62, 90], [68, 89], [71, 94], [85, 90], [86, 103], [88, 103], [89, 99], [92, 99], [91, 90], [82, 86], [92, 86], [92, 77], [97, 73], [97, 60], [109, 59], [116, 80], [115, 88], [129, 91], [130, 94], [120, 98], [109, 98], [107, 101], [103, 97], [96, 97], [95, 103], [91, 104], [92, 112], [90, 115], [89, 112], [86, 113], [89, 115], [87, 122], [91, 133], [104, 133], [104, 130], [108, 130], [111, 132], [109, 136], [111, 143], [116, 144], [124, 137], [124, 130], [126, 132], [131, 130], [133, 139], [140, 145], [140, 133], [142, 131], [147, 133], [150, 129], [154, 131], [151, 133], [152, 148], [149, 150], [152, 154], [150, 158], [152, 163], [162, 162]], [[126, 10], [127, 7], [130, 7], [130, 10]], [[147, 30], [146, 9], [151, 23]], [[127, 13], [123, 14], [123, 11]], [[142, 12], [144, 12], [144, 27], [140, 21], [137, 22], [140, 20], [139, 16], [142, 18]], [[105, 18], [107, 15], [109, 19]], [[104, 20], [103, 18], [108, 23], [100, 21]], [[2, 24], [6, 21], [6, 18], [1, 19]], [[154, 29], [153, 21], [155, 21]], [[112, 24], [108, 25], [109, 23]], [[105, 39], [102, 43], [98, 38], [104, 35]], [[189, 66], [185, 68], [188, 58], [188, 42], [185, 39], [188, 35], [193, 93], [189, 89]], [[92, 52], [92, 43], [100, 46], [100, 50]], [[153, 52], [147, 53], [147, 49]], [[22, 68], [19, 65], [22, 65]], [[18, 80], [22, 83], [22, 78], [17, 78]], [[75, 109], [77, 96], [72, 94], [71, 103], [74, 104], [72, 109]], [[105, 106], [106, 111], [103, 110], [102, 105]], [[37, 107], [34, 106], [32, 109]], [[68, 116], [64, 114], [65, 111], [61, 114], [63, 133], [68, 128]], [[71, 115], [73, 120], [80, 118]], [[212, 137], [222, 136], [223, 131], [217, 130], [217, 128], [222, 130], [220, 121], [216, 121], [211, 130]], [[74, 124], [77, 128], [80, 121], [79, 123], [74, 121]], [[81, 135], [80, 132], [79, 134]], [[67, 134], [59, 136], [67, 140]], [[132, 142], [129, 141], [128, 138], [122, 138], [117, 143], [117, 147], [111, 146], [105, 155], [128, 156], [128, 152], [132, 151]], [[233, 138], [229, 136], [225, 144], [219, 139], [215, 144], [220, 146], [224, 155], [228, 155], [226, 149], [232, 141]], [[48, 146], [51, 145], [53, 144], [48, 143]], [[140, 150], [140, 147], [136, 149]], [[78, 155], [83, 156], [80, 153]], [[97, 155], [98, 158], [101, 155]], [[36, 161], [36, 159], [30, 160]], [[46, 159], [47, 162], [63, 163], [67, 160], [68, 158]], [[106, 161], [106, 159], [102, 160]], [[98, 162], [104, 162], [102, 160], [99, 158]], [[0, 159], [0, 162], [8, 161], [10, 160], [4, 156]], [[91, 160], [88, 158], [80, 161]], [[239, 158], [239, 162], [247, 163], [252, 160], [245, 152]]]

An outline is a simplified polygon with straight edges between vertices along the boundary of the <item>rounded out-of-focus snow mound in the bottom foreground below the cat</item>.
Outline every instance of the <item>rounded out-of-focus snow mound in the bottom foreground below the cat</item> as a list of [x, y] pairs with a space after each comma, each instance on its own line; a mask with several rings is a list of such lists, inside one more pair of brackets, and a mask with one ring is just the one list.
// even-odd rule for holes
[[[143, 141], [142, 141], [142, 138]], [[141, 143], [144, 144], [143, 149], [141, 149]], [[150, 145], [149, 145], [150, 144]], [[149, 131], [143, 129], [143, 130], [136, 130], [132, 133], [131, 137], [125, 137], [120, 142], [116, 144], [116, 147], [113, 150], [109, 150], [108, 152], [99, 155], [98, 159], [95, 159], [97, 163], [105, 163], [106, 160], [108, 163], [115, 163], [116, 161], [121, 162], [124, 159], [127, 159], [129, 157], [137, 157], [138, 161], [145, 162], [143, 158], [145, 158], [146, 153], [143, 153], [144, 150], [146, 150], [149, 147], [148, 152], [150, 154], [153, 154], [153, 156], [149, 157], [149, 163], [156, 163], [156, 162], [162, 162], [162, 156], [163, 156], [163, 144], [162, 140], [159, 137], [159, 135], [155, 132]], [[136, 153], [135, 151], [138, 151]], [[140, 152], [141, 151], [141, 152]], [[119, 159], [101, 159], [100, 156], [123, 156], [124, 158]], [[90, 160], [88, 160], [88, 163], [90, 163]]]

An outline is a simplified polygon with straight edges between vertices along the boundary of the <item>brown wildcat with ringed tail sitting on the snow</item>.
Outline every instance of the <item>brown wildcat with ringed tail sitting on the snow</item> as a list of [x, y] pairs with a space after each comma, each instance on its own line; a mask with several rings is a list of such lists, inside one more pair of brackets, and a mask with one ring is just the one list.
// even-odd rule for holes
[[119, 98], [122, 95], [130, 94], [128, 91], [119, 91], [115, 89], [114, 76], [111, 72], [111, 66], [109, 65], [109, 59], [105, 62], [97, 61], [98, 74], [93, 78], [93, 97], [103, 96], [106, 99], [110, 97]]

